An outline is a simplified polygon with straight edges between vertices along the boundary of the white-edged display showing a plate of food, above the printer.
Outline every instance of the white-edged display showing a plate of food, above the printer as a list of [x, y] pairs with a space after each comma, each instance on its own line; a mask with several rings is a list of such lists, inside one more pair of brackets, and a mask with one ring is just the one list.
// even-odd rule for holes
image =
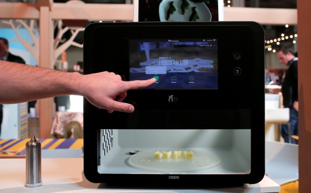
[[133, 21], [223, 21], [223, 0], [134, 0]]

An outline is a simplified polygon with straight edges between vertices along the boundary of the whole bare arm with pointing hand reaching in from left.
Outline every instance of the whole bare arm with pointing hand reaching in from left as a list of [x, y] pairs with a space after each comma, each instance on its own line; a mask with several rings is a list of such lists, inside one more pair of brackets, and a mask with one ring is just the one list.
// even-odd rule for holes
[[150, 86], [156, 79], [122, 81], [112, 72], [81, 75], [0, 61], [0, 104], [20, 103], [61, 95], [81, 95], [109, 113], [133, 112], [123, 103], [127, 91]]

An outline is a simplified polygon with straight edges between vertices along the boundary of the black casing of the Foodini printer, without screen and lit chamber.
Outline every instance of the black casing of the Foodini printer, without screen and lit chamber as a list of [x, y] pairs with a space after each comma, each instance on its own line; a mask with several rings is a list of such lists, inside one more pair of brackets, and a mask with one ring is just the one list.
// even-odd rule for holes
[[[86, 178], [94, 183], [147, 184], [151, 182], [202, 186], [234, 186], [260, 182], [265, 174], [264, 30], [262, 26], [256, 22], [93, 23], [88, 25], [84, 32], [84, 74], [109, 71], [121, 75], [124, 81], [131, 80], [129, 42], [133, 39], [142, 41], [216, 39], [216, 88], [130, 90], [124, 102], [135, 106], [133, 113], [109, 114], [84, 99]], [[178, 100], [168, 100], [172, 95]], [[156, 129], [160, 129], [161, 132], [175, 129], [177, 133], [184, 129], [197, 131], [225, 129], [230, 132], [248, 129], [250, 135], [249, 139], [245, 139], [248, 141], [245, 142], [245, 146], [249, 146], [250, 151], [250, 172], [181, 175], [143, 172], [100, 173], [98, 167], [103, 158], [100, 153], [102, 151], [100, 129], [116, 131], [150, 129], [153, 132]], [[137, 137], [143, 138], [143, 136]], [[135, 141], [135, 136], [129, 137], [128, 140]], [[243, 144], [240, 138], [239, 141]], [[114, 149], [114, 146], [111, 149]], [[109, 152], [105, 156], [108, 154]], [[224, 159], [221, 163], [224, 163]], [[132, 167], [127, 163], [126, 165]]]

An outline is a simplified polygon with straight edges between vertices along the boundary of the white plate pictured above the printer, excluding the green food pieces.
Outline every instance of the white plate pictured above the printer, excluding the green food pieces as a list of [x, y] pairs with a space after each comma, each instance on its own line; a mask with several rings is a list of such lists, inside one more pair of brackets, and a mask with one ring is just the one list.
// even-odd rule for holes
[[[169, 20], [166, 20], [169, 4], [172, 1], [174, 2], [174, 7], [176, 8], [176, 11], [170, 16]], [[181, 10], [182, 0], [163, 0], [159, 6], [160, 21], [189, 21], [189, 18], [192, 14], [192, 7], [197, 7], [196, 11], [200, 17], [197, 21], [211, 21], [211, 11], [208, 9], [205, 3], [194, 3], [191, 0], [187, 1], [190, 5], [189, 8], [186, 10], [185, 15], [183, 15]]]

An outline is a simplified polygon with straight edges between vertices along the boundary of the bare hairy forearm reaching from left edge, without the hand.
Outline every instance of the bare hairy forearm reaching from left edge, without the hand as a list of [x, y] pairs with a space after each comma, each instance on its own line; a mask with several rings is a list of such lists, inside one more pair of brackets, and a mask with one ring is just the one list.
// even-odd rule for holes
[[[20, 103], [76, 94], [82, 75], [0, 61], [0, 103]], [[13, 78], [12, 78], [13, 77]]]

